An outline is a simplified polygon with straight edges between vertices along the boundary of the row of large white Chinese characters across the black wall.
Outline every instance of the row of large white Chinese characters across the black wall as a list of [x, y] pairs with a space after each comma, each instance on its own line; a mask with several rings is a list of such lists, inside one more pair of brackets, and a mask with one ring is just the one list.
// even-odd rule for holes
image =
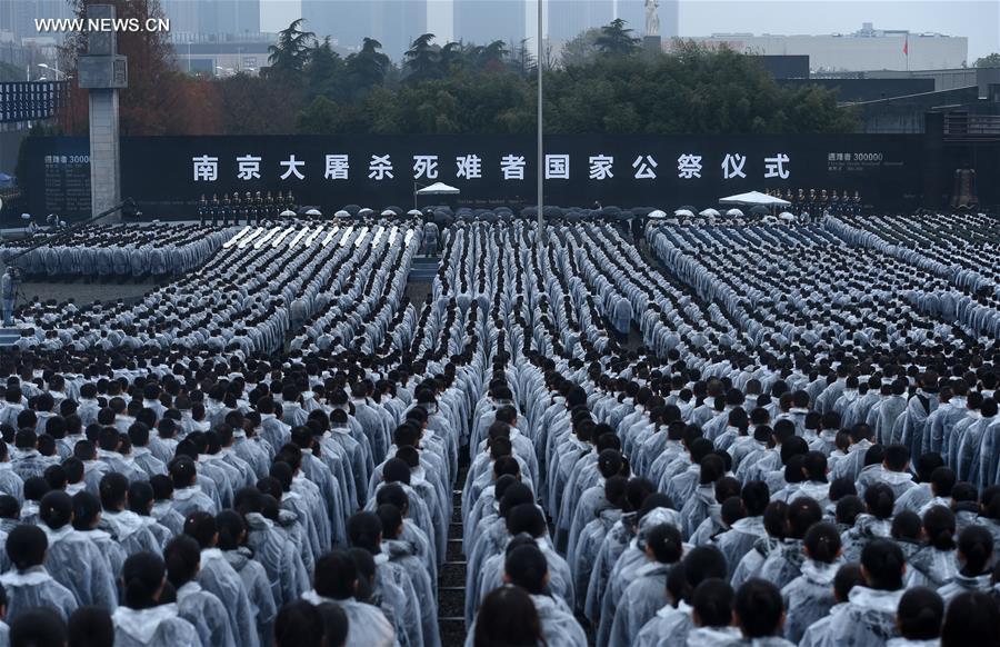
[[[397, 156], [400, 157], [400, 156]], [[747, 169], [749, 156], [739, 152], [728, 152], [718, 165], [719, 178], [722, 180], [747, 179], [749, 170]], [[631, 177], [636, 180], [656, 180], [658, 178], [658, 169], [662, 161], [652, 155], [638, 155], [634, 160], [616, 159], [613, 156], [599, 153], [589, 156], [584, 161], [576, 165], [571, 157], [566, 153], [546, 155], [544, 158], [544, 177], [547, 180], [569, 180], [571, 173], [587, 173], [589, 180], [600, 182], [610, 180], [616, 175], [622, 177]], [[398, 160], [402, 170], [412, 173], [416, 180], [437, 180], [440, 177], [442, 165], [450, 165], [451, 160], [446, 160], [437, 155], [414, 155], [406, 160]], [[663, 160], [666, 161], [666, 160]], [[671, 160], [672, 161], [672, 160]], [[322, 172], [323, 180], [350, 180], [351, 167], [356, 166], [369, 180], [377, 182], [393, 180], [398, 172], [396, 166], [397, 160], [392, 159], [391, 153], [379, 155], [372, 153], [364, 159], [358, 159], [346, 153], [328, 153], [322, 160], [299, 159], [294, 155], [280, 159], [274, 168], [268, 170], [262, 168], [264, 162], [261, 156], [247, 153], [238, 156], [233, 160], [234, 173], [232, 179], [251, 181], [261, 179], [278, 179], [282, 181], [300, 181], [307, 178], [307, 175], [313, 172]], [[760, 179], [781, 179], [787, 180], [791, 177], [791, 158], [783, 152], [766, 156], [762, 159], [763, 170], [759, 173]], [[217, 182], [226, 180], [224, 175], [220, 171], [221, 160], [218, 156], [208, 153], [198, 155], [191, 158], [191, 170], [196, 182]], [[670, 163], [670, 162], [668, 162]], [[693, 152], [683, 152], [677, 157], [677, 177], [681, 180], [698, 180], [709, 173], [706, 159], [701, 155]], [[522, 181], [524, 180], [524, 169], [527, 161], [524, 156], [504, 155], [499, 159], [490, 160], [477, 153], [459, 155], [454, 157], [454, 177], [458, 180], [481, 180], [484, 178], [487, 169], [492, 166], [497, 173], [494, 177], [501, 181]], [[322, 170], [321, 170], [322, 169]], [[586, 169], [586, 171], [584, 171]]]

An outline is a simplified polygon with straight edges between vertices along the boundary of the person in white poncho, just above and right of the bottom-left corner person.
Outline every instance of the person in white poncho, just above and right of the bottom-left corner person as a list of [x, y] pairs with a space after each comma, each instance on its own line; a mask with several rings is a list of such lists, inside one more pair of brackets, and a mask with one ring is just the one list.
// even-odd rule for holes
[[83, 532], [73, 530], [73, 501], [61, 491], [42, 497], [40, 528], [46, 532], [46, 566], [56, 581], [70, 589], [80, 606], [113, 608], [118, 595], [108, 557]]

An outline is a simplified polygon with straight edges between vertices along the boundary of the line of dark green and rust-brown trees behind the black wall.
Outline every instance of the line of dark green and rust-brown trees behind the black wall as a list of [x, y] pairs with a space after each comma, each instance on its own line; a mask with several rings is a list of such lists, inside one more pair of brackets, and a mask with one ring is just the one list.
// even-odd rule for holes
[[[71, 0], [82, 11], [84, 0]], [[111, 0], [120, 11], [157, 17], [157, 0]], [[121, 16], [121, 13], [120, 13]], [[366, 38], [340, 56], [303, 20], [283, 29], [259, 76], [183, 73], [161, 33], [126, 33], [129, 89], [123, 135], [530, 133], [539, 63], [526, 42], [438, 43], [417, 38], [400, 64]], [[86, 42], [63, 52], [73, 69]], [[581, 33], [560, 57], [547, 51], [548, 133], [849, 132], [856, 118], [818, 87], [780, 86], [754, 57], [679, 43], [670, 53], [640, 46], [616, 20]], [[70, 102], [62, 132], [87, 130], [86, 96]]]

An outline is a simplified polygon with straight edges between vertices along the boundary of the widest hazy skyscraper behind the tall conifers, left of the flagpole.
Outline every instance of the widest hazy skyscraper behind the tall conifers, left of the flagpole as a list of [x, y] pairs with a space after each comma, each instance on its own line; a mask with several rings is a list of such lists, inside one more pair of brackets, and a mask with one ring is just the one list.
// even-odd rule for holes
[[373, 38], [399, 60], [410, 42], [427, 31], [428, 0], [302, 0], [304, 29], [357, 49]]

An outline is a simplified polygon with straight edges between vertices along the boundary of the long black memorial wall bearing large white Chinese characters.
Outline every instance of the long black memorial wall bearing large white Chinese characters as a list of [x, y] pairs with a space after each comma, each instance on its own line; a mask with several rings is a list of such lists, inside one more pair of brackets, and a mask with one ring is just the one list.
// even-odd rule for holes
[[[750, 190], [859, 191], [880, 210], [920, 205], [923, 136], [546, 138], [546, 203], [712, 206]], [[33, 211], [86, 215], [88, 143], [31, 138]], [[416, 189], [457, 187], [463, 205], [536, 200], [531, 136], [156, 137], [121, 141], [122, 196], [161, 218], [193, 218], [201, 196], [291, 190], [324, 212], [346, 203], [410, 208]], [[953, 170], [953, 169], [952, 169]], [[950, 171], [949, 171], [950, 172]], [[426, 203], [426, 202], [421, 202]]]

